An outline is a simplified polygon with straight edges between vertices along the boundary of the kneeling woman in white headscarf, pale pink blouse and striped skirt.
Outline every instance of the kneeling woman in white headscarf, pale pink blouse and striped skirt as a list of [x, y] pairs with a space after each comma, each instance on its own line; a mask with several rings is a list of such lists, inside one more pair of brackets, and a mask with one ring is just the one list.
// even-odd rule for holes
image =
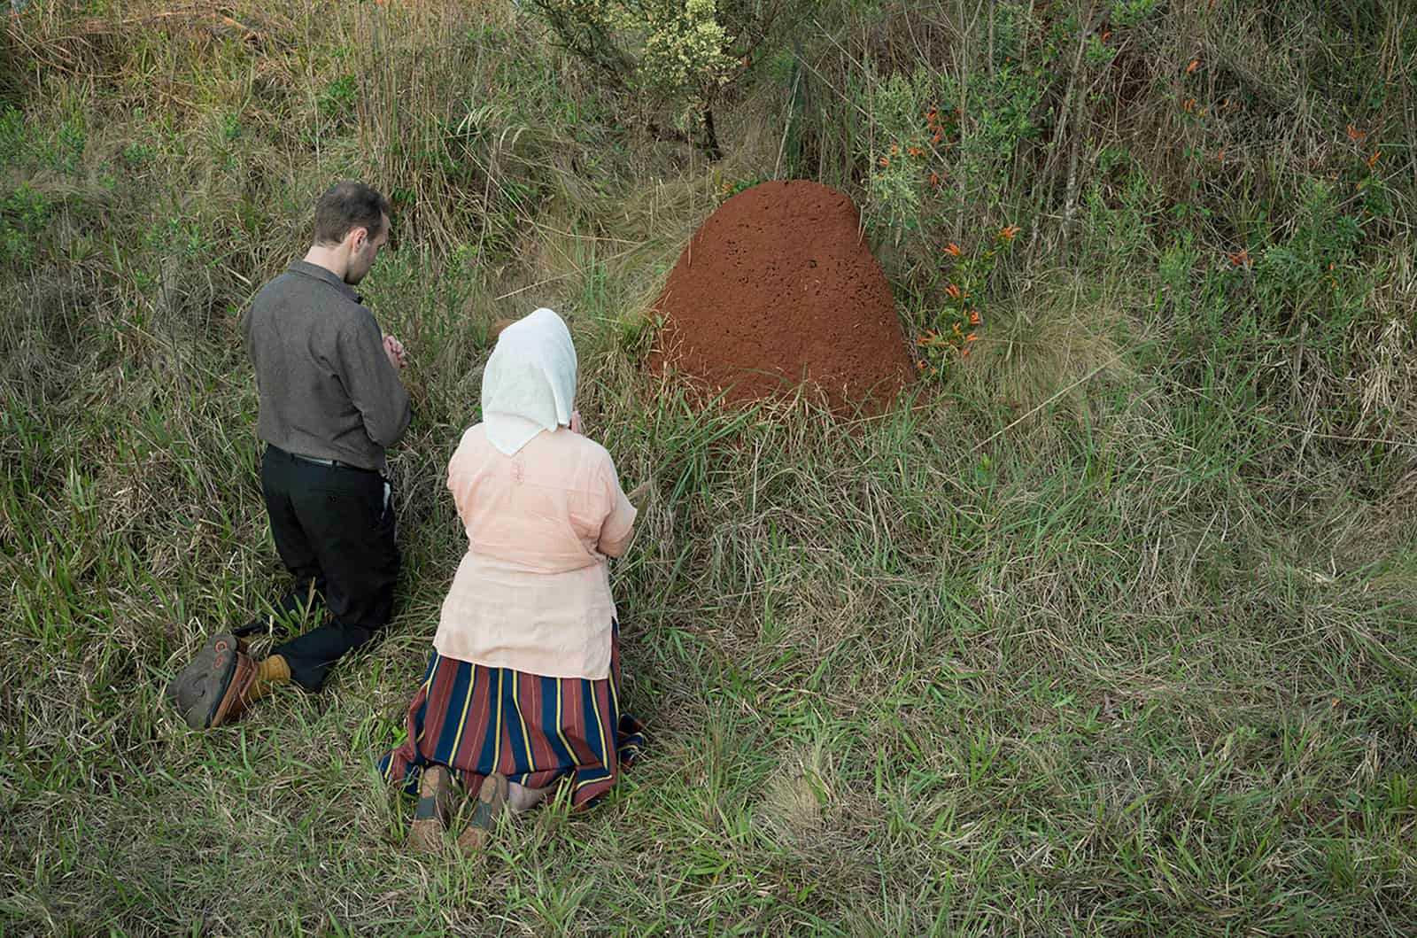
[[605, 448], [578, 432], [575, 371], [554, 312], [509, 326], [482, 377], [483, 422], [448, 466], [468, 553], [408, 708], [408, 741], [380, 762], [419, 795], [410, 840], [424, 849], [442, 836], [453, 779], [478, 793], [459, 837], [476, 849], [504, 805], [526, 810], [563, 781], [572, 806], [605, 793], [640, 742], [619, 711], [608, 572], [636, 509]]

